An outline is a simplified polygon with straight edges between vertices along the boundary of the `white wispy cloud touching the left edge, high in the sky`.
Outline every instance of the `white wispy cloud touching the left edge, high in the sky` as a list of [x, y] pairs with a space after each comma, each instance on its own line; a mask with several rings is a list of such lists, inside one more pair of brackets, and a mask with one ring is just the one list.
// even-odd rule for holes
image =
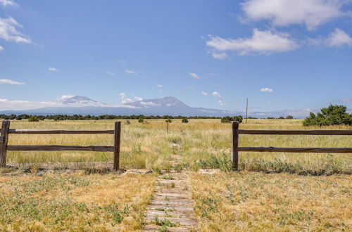
[[0, 38], [6, 41], [15, 41], [16, 43], [32, 43], [30, 39], [17, 30], [18, 27], [22, 27], [22, 25], [14, 18], [0, 18]]

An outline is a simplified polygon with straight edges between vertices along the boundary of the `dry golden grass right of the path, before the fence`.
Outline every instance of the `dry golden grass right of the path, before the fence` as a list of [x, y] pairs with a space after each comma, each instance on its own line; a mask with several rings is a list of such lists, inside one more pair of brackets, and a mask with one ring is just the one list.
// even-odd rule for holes
[[351, 231], [349, 175], [191, 174], [200, 231]]

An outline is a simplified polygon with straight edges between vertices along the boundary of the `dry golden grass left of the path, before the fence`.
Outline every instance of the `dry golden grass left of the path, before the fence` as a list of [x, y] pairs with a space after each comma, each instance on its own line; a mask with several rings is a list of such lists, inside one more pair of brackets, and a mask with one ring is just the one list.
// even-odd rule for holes
[[153, 174], [0, 176], [3, 231], [139, 231]]

